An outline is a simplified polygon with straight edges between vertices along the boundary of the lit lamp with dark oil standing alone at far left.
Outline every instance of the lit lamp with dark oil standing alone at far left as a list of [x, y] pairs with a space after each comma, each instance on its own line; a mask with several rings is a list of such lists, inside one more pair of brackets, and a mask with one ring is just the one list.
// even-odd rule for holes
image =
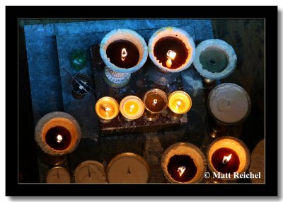
[[76, 149], [80, 140], [79, 123], [69, 113], [47, 113], [35, 126], [35, 141], [47, 155], [67, 155]]

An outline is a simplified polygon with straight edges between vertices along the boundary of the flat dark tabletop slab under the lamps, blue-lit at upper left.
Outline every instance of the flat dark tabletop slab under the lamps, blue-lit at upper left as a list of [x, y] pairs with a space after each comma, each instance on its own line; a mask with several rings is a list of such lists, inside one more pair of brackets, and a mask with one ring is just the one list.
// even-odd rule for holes
[[[180, 125], [178, 128], [153, 133], [132, 133], [98, 138], [97, 117], [93, 108], [94, 96], [86, 95], [82, 100], [73, 102], [74, 106], [70, 106], [71, 101], [74, 101], [70, 94], [71, 78], [62, 68], [64, 67], [71, 74], [78, 72], [71, 69], [69, 63], [69, 55], [72, 50], [79, 48], [90, 54], [91, 45], [100, 43], [103, 36], [115, 28], [137, 30], [147, 42], [156, 29], [164, 26], [184, 28], [196, 42], [213, 38], [209, 20], [120, 20], [25, 26], [25, 38], [33, 42], [27, 43], [27, 52], [35, 123], [47, 113], [46, 111], [63, 110], [64, 106], [64, 111], [74, 115], [80, 124], [84, 123], [81, 125], [83, 131], [85, 127], [91, 127], [94, 131], [94, 133], [83, 133], [79, 146], [68, 155], [65, 164], [69, 165], [71, 174], [74, 174], [76, 166], [84, 160], [97, 160], [102, 162], [106, 168], [110, 159], [115, 155], [122, 152], [134, 152], [144, 157], [149, 163], [151, 183], [168, 183], [160, 165], [162, 154], [167, 147], [175, 142], [192, 142], [204, 150], [209, 144], [207, 108], [202, 78], [193, 66], [182, 72], [183, 88], [192, 98], [192, 108], [187, 113], [187, 124]], [[37, 65], [39, 61], [40, 66]], [[89, 60], [86, 68], [79, 72], [92, 74]], [[84, 111], [88, 113], [80, 113], [80, 108], [84, 108]], [[40, 182], [44, 182], [47, 166], [42, 163], [39, 166]]]

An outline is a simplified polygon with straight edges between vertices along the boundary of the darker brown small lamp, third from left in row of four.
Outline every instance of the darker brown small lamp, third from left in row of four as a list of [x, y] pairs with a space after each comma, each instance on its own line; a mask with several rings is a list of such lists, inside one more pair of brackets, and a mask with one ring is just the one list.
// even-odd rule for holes
[[144, 118], [149, 121], [154, 121], [158, 118], [158, 114], [162, 113], [168, 106], [168, 98], [161, 89], [151, 89], [144, 94], [144, 107], [146, 115]]

